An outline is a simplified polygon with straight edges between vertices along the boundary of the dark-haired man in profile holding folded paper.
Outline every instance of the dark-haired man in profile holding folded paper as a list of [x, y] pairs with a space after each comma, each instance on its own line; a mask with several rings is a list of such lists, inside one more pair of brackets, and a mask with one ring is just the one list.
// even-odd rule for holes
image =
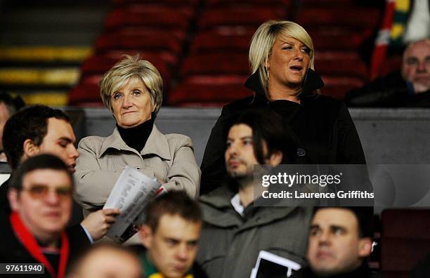
[[[79, 156], [74, 147], [75, 141], [67, 114], [46, 105], [34, 105], [20, 110], [8, 119], [4, 127], [3, 144], [13, 171], [30, 157], [54, 154], [73, 173]], [[9, 180], [0, 187], [0, 218], [4, 218], [4, 214], [7, 217], [11, 212], [6, 197], [8, 183]], [[88, 235], [91, 242], [100, 239], [107, 232], [112, 216], [118, 213], [118, 210], [109, 209], [89, 214], [81, 223], [84, 228], [82, 232]], [[81, 227], [75, 228], [82, 230]]]

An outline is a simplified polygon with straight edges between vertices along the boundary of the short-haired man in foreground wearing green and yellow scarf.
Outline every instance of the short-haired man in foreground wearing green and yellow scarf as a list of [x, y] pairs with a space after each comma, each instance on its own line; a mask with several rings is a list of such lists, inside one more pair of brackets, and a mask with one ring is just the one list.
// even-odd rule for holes
[[168, 192], [148, 204], [141, 227], [145, 277], [204, 277], [193, 265], [201, 227], [200, 207], [185, 192]]

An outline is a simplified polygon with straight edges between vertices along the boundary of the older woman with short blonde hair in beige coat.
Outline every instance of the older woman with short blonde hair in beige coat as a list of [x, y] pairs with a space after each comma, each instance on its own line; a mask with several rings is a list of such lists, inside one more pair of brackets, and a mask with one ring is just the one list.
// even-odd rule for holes
[[79, 142], [75, 199], [84, 212], [105, 204], [126, 166], [157, 178], [165, 190], [199, 194], [200, 168], [188, 136], [162, 134], [154, 124], [162, 105], [162, 77], [138, 55], [125, 58], [100, 80], [103, 103], [116, 121], [107, 137], [89, 136]]

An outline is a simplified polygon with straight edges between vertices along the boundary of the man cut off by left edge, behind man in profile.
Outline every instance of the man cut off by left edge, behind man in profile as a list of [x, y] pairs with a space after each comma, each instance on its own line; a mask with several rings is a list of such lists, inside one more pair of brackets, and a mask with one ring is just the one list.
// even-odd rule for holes
[[4, 154], [3, 150], [3, 143], [1, 142], [4, 125], [6, 124], [6, 121], [15, 114], [15, 112], [24, 107], [24, 105], [25, 102], [19, 95], [13, 98], [10, 94], [4, 91], [0, 92], [0, 161], [2, 162], [7, 162], [6, 154]]

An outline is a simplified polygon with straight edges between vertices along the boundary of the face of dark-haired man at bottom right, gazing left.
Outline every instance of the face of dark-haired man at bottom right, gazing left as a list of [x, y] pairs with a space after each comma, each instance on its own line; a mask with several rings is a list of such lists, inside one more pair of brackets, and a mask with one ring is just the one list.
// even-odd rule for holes
[[349, 272], [370, 255], [372, 240], [360, 238], [356, 215], [348, 209], [319, 209], [311, 222], [308, 261], [321, 277]]

